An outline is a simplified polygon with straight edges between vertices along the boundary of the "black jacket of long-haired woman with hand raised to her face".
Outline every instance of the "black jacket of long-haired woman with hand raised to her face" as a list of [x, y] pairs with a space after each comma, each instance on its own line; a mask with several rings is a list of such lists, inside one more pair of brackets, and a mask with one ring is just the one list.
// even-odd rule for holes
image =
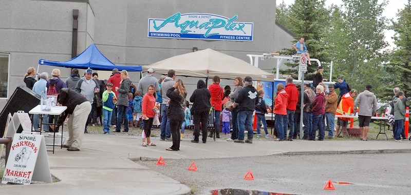
[[170, 98], [170, 104], [167, 108], [167, 116], [170, 120], [184, 120], [184, 110], [185, 110], [185, 96], [182, 97], [176, 88], [171, 87], [167, 90], [167, 97]]

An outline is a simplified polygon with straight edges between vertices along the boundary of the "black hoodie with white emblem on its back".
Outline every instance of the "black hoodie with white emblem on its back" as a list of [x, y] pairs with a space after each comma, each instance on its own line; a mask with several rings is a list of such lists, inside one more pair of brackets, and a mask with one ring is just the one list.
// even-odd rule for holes
[[234, 102], [238, 104], [238, 112], [254, 111], [255, 105], [258, 104], [257, 90], [252, 85], [242, 88]]

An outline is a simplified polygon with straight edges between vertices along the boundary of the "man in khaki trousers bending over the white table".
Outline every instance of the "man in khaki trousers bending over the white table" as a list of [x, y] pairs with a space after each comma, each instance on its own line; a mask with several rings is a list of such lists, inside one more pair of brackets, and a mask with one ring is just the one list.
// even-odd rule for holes
[[68, 139], [62, 147], [67, 148], [68, 151], [79, 151], [83, 141], [84, 126], [88, 113], [91, 111], [91, 104], [83, 95], [68, 88], [60, 90], [57, 101], [59, 104], [67, 106], [67, 110], [64, 111], [58, 124], [62, 124], [67, 115], [70, 114], [70, 120], [67, 123]]

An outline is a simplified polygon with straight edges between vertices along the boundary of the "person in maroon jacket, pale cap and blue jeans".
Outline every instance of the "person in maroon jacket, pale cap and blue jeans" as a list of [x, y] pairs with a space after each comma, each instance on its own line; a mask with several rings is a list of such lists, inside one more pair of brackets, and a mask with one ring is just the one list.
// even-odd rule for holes
[[315, 96], [311, 103], [311, 112], [314, 114], [312, 118], [312, 130], [310, 132], [310, 140], [312, 141], [315, 141], [317, 127], [320, 127], [318, 140], [324, 140], [323, 115], [325, 114], [325, 97], [323, 92], [324, 87], [322, 85], [317, 85], [317, 96]]

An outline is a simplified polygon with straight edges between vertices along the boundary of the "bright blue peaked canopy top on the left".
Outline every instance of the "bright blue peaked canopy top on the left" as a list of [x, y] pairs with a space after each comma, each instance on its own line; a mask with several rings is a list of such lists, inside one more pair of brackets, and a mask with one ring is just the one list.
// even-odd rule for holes
[[99, 49], [97, 49], [96, 45], [94, 44], [91, 44], [86, 50], [67, 62], [57, 62], [41, 59], [39, 60], [39, 64], [77, 69], [91, 68], [93, 70], [111, 71], [114, 68], [117, 68], [120, 71], [141, 71], [141, 66], [117, 66], [113, 64], [103, 54], [101, 54]]

